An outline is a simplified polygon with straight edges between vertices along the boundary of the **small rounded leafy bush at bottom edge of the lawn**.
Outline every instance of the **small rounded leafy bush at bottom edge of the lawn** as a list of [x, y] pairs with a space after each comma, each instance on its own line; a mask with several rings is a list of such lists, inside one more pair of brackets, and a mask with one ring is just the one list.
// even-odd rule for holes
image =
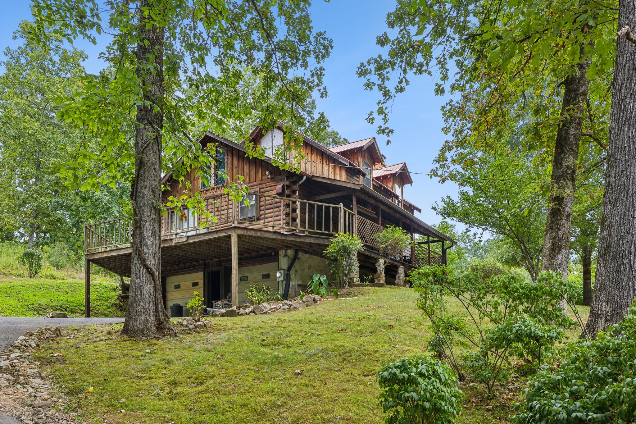
[[424, 355], [399, 359], [377, 374], [380, 407], [391, 424], [454, 423], [463, 393], [448, 365]]

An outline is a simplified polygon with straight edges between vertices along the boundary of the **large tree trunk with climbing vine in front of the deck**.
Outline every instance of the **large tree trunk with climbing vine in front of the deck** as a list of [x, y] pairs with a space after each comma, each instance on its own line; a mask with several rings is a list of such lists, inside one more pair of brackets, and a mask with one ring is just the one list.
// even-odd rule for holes
[[[135, 127], [135, 178], [130, 200], [134, 213], [130, 294], [121, 334], [156, 337], [170, 325], [163, 307], [161, 290], [161, 170], [163, 128], [163, 44], [165, 30], [153, 25], [146, 29], [139, 2], [141, 41], [137, 44], [137, 76], [143, 81], [144, 100], [153, 106], [137, 106]], [[158, 12], [160, 13], [160, 11]], [[143, 41], [146, 41], [144, 43]], [[154, 60], [149, 61], [148, 58]]]

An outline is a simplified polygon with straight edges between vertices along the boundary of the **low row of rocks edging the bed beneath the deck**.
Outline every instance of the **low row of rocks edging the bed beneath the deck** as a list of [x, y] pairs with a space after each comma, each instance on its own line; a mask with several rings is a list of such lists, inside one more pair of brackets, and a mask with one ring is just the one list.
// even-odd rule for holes
[[[280, 302], [263, 302], [255, 305], [249, 303], [240, 304], [233, 308], [227, 309], [215, 309], [212, 310], [210, 316], [212, 318], [217, 317], [242, 317], [244, 315], [267, 315], [277, 311], [297, 311], [307, 306], [314, 306], [315, 304], [326, 300], [326, 297], [317, 296], [315, 294], [305, 294], [302, 299], [294, 297], [291, 300], [284, 300]], [[209, 327], [211, 324], [209, 321], [202, 320], [195, 322], [192, 318], [183, 318], [179, 320], [178, 324], [188, 327], [188, 329]]]

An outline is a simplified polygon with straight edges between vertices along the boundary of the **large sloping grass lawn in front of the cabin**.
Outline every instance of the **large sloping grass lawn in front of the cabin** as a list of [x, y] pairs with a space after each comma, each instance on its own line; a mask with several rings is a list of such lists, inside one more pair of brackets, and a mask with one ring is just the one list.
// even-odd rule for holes
[[[73, 329], [36, 359], [67, 395], [83, 396], [76, 408], [96, 423], [380, 423], [375, 373], [425, 352], [431, 334], [410, 289], [345, 296], [294, 312], [214, 318], [210, 329], [163, 340], [114, 337], [120, 324]], [[48, 356], [56, 352], [62, 357]], [[462, 390], [460, 423], [506, 420], [521, 392], [483, 400], [480, 388]]]

